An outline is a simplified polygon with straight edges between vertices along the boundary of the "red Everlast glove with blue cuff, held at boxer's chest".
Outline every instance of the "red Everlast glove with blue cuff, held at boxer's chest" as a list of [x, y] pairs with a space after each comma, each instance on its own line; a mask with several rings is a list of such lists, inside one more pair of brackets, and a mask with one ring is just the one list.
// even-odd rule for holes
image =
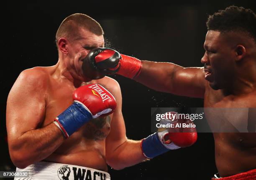
[[89, 120], [111, 114], [116, 107], [115, 97], [98, 84], [77, 88], [73, 100], [74, 103], [54, 120], [66, 138]]

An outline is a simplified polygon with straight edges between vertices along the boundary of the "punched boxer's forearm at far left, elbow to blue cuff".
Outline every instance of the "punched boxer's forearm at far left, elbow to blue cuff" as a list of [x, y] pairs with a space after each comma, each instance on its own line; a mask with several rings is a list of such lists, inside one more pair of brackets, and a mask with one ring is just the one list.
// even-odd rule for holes
[[54, 123], [27, 131], [9, 144], [11, 159], [18, 168], [26, 168], [51, 155], [64, 139], [63, 133]]

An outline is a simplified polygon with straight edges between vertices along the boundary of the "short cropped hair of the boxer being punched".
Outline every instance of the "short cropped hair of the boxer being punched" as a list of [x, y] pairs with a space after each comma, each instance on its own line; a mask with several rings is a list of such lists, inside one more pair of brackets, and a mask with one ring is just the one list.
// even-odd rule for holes
[[88, 15], [76, 13], [69, 15], [62, 21], [56, 32], [56, 44], [61, 37], [66, 37], [69, 40], [73, 40], [74, 37], [79, 37], [79, 28], [81, 27], [89, 30], [95, 35], [104, 35], [100, 24], [96, 20]]

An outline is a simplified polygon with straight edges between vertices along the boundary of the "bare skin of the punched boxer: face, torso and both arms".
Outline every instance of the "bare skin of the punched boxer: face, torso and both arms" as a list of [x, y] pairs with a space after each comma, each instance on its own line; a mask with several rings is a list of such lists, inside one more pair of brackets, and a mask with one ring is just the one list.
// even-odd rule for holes
[[[10, 90], [6, 123], [10, 157], [18, 168], [38, 161], [79, 165], [108, 171], [107, 163], [122, 169], [142, 162], [141, 140], [128, 140], [118, 82], [110, 77], [89, 80], [82, 75], [82, 60], [92, 48], [103, 47], [103, 35], [79, 29], [79, 38], [58, 41], [59, 61], [20, 73]], [[117, 101], [113, 114], [90, 120], [68, 139], [53, 123], [72, 103], [81, 85], [99, 83]], [[129, 158], [127, 158], [129, 157]]]

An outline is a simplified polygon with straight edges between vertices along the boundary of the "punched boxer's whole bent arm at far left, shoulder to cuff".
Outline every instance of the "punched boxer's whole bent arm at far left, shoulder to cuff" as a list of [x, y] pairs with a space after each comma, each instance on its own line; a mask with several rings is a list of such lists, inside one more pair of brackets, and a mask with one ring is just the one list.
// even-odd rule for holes
[[47, 77], [35, 69], [21, 72], [7, 100], [6, 125], [10, 157], [18, 168], [41, 161], [63, 142], [59, 128], [44, 128]]

